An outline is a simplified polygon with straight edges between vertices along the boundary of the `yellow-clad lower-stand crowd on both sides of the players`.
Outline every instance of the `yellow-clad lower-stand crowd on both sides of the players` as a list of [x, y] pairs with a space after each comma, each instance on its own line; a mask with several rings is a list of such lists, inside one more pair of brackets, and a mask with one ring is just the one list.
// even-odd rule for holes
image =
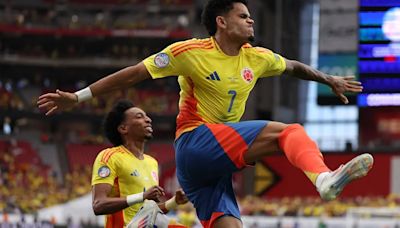
[[[72, 169], [59, 183], [54, 172], [40, 161], [28, 163], [18, 157], [18, 145], [2, 142], [0, 151], [0, 213], [35, 213], [37, 210], [86, 195], [90, 192], [91, 167]], [[37, 158], [38, 159], [38, 158]], [[34, 159], [35, 160], [35, 159]], [[40, 160], [40, 159], [39, 159]], [[400, 196], [340, 198], [324, 202], [319, 197], [239, 198], [243, 215], [344, 216], [352, 207], [399, 207]], [[182, 206], [178, 218], [195, 220], [194, 209]]]

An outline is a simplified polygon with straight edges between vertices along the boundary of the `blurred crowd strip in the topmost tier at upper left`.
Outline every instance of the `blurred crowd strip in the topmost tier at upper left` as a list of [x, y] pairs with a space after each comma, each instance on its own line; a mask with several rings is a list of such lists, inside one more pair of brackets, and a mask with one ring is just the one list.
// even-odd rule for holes
[[[37, 3], [40, 3], [38, 1]], [[0, 28], [4, 25], [28, 29], [168, 29], [188, 26], [187, 6], [191, 0], [162, 0], [151, 4], [137, 1], [69, 1], [68, 4], [43, 1], [37, 5], [3, 3]], [[146, 10], [142, 10], [143, 7]], [[180, 9], [180, 7], [183, 7]], [[165, 10], [167, 9], [167, 10]], [[171, 10], [172, 9], [172, 10]], [[135, 12], [132, 14], [132, 10]], [[95, 13], [93, 13], [95, 12]], [[172, 13], [171, 13], [172, 12]], [[180, 23], [172, 23], [178, 21]], [[15, 27], [7, 27], [12, 29]]]

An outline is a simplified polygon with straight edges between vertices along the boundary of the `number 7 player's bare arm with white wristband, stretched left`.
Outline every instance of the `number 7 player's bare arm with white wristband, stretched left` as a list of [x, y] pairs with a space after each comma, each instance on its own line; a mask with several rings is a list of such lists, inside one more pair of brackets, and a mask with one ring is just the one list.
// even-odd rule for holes
[[141, 62], [135, 66], [126, 67], [110, 74], [75, 93], [56, 90], [55, 93], [43, 94], [39, 97], [37, 105], [40, 109], [46, 111], [46, 115], [51, 115], [57, 111], [72, 108], [79, 102], [94, 96], [128, 88], [148, 78], [151, 78], [151, 76], [143, 62]]

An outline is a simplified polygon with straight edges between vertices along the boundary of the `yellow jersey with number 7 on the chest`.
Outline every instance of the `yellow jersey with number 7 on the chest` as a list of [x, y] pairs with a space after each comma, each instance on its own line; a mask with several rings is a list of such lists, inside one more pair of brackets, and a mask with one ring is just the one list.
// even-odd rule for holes
[[203, 123], [240, 121], [257, 79], [286, 69], [281, 56], [250, 44], [228, 56], [213, 37], [174, 43], [143, 63], [153, 79], [179, 76], [177, 138]]

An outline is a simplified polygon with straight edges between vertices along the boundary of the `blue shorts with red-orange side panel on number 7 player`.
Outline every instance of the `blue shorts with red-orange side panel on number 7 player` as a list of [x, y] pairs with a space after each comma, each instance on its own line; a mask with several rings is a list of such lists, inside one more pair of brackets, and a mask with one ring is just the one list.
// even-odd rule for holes
[[247, 166], [244, 154], [267, 123], [203, 124], [175, 141], [179, 184], [204, 227], [225, 215], [240, 219], [232, 174]]

